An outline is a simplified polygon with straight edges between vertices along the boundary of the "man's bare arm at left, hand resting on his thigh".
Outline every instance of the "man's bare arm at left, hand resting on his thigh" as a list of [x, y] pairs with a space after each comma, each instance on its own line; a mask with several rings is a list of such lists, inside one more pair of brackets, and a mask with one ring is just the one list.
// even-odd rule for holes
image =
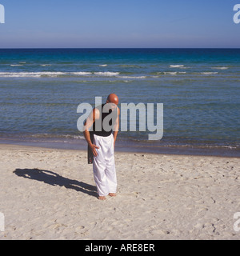
[[94, 156], [96, 157], [98, 155], [96, 149], [98, 149], [98, 146], [94, 145], [92, 142], [91, 142], [91, 139], [90, 139], [90, 127], [93, 126], [96, 118], [98, 119], [99, 118], [99, 110], [96, 110], [94, 109], [88, 118], [86, 118], [86, 122], [84, 123], [84, 126], [85, 126], [85, 130], [83, 132], [84, 134], [84, 137], [86, 138], [86, 142], [87, 144], [90, 146], [90, 149], [92, 150]]

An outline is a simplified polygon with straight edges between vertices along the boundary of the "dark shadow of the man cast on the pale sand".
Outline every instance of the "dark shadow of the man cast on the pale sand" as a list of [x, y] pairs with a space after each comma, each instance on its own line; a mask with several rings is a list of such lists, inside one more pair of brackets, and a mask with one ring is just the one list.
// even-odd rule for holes
[[65, 186], [66, 189], [76, 190], [94, 197], [98, 197], [96, 186], [78, 182], [74, 179], [64, 178], [50, 170], [16, 169], [14, 174], [23, 178], [34, 179], [52, 186]]

